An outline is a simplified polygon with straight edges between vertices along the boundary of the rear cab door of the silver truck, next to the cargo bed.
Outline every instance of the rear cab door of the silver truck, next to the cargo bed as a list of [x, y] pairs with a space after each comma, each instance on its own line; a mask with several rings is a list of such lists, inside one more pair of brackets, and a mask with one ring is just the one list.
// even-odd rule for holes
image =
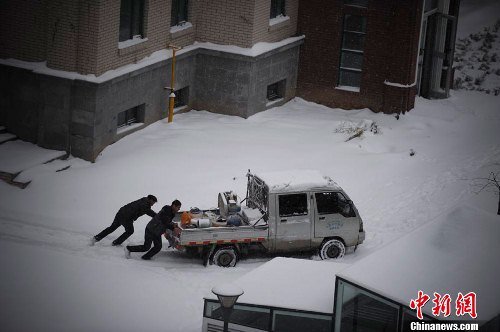
[[311, 213], [308, 194], [277, 195], [276, 251], [311, 249]]

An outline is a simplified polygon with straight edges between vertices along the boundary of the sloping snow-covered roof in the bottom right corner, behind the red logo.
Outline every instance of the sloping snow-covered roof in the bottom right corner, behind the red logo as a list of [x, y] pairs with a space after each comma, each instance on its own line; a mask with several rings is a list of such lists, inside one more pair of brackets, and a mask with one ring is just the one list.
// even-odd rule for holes
[[[434, 292], [476, 293], [478, 320], [500, 314], [500, 217], [471, 206], [455, 208], [343, 270], [338, 276], [409, 305], [422, 290], [432, 315]], [[445, 318], [457, 319], [453, 313]], [[468, 314], [459, 319], [471, 319]]]

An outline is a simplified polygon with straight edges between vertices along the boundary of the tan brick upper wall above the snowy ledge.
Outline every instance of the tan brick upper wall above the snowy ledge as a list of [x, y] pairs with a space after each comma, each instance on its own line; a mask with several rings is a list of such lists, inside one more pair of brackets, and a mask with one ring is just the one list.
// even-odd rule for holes
[[170, 33], [172, 0], [144, 0], [147, 41], [118, 48], [120, 0], [1, 2], [2, 58], [47, 60], [50, 68], [101, 75], [168, 44], [194, 41], [252, 47], [296, 33], [298, 0], [286, 1], [286, 22], [269, 26], [270, 0], [190, 0], [192, 28]]

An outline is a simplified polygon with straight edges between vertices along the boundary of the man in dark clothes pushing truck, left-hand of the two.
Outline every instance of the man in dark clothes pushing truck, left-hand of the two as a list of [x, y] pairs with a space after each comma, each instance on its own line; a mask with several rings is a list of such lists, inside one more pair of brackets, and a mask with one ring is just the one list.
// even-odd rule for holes
[[101, 241], [103, 238], [113, 233], [118, 227], [125, 227], [125, 233], [120, 235], [116, 240], [113, 241], [114, 246], [118, 246], [123, 243], [130, 235], [134, 233], [134, 221], [137, 218], [147, 214], [150, 217], [156, 216], [156, 213], [151, 210], [151, 207], [157, 202], [155, 196], [148, 195], [148, 197], [143, 197], [138, 199], [137, 201], [133, 201], [132, 203], [128, 203], [125, 206], [122, 206], [118, 213], [115, 216], [115, 220], [108, 228], [104, 229], [102, 232], [94, 236], [90, 240], [90, 245], [94, 245], [94, 243]]

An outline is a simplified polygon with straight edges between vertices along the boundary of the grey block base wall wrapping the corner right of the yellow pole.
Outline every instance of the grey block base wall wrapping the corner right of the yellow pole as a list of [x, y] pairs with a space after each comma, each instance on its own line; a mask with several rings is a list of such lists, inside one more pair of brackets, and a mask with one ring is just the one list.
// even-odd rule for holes
[[268, 108], [267, 87], [281, 80], [286, 80], [281, 101], [285, 103], [295, 96], [301, 44], [297, 41], [258, 57], [200, 50], [193, 108], [248, 118]]

